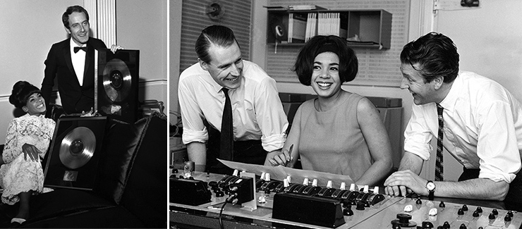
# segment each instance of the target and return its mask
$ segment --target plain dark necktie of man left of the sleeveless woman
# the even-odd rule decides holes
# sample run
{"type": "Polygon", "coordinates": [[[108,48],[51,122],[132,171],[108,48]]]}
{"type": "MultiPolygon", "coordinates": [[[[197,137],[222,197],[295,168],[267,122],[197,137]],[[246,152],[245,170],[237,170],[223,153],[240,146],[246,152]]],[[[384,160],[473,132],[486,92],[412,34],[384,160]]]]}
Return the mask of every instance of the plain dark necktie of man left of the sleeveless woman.
{"type": "Polygon", "coordinates": [[[219,147],[219,158],[233,160],[233,125],[232,125],[232,104],[229,97],[229,89],[223,88],[225,94],[225,107],[221,120],[221,144],[219,147]]]}

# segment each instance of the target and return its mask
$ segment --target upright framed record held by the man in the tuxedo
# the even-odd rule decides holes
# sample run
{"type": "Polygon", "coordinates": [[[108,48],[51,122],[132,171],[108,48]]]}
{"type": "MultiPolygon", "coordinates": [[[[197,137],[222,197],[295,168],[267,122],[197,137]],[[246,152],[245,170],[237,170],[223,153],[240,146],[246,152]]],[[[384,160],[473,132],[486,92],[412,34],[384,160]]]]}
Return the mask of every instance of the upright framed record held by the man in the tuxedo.
{"type": "Polygon", "coordinates": [[[138,120],[140,51],[95,51],[95,109],[127,123],[138,120]]]}

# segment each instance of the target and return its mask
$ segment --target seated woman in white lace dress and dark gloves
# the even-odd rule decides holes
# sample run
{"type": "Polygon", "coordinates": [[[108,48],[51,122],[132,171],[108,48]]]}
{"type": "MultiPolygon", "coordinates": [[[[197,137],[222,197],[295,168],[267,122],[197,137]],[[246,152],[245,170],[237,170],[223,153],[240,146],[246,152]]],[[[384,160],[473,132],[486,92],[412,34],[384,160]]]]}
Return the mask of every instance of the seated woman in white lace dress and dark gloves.
{"type": "Polygon", "coordinates": [[[26,112],[9,123],[4,152],[0,157],[1,200],[13,205],[20,202],[18,214],[11,223],[23,223],[29,218],[32,194],[43,191],[43,159],[54,132],[54,120],[45,118],[45,101],[40,89],[29,82],[18,81],[13,86],[9,102],[26,112]]]}

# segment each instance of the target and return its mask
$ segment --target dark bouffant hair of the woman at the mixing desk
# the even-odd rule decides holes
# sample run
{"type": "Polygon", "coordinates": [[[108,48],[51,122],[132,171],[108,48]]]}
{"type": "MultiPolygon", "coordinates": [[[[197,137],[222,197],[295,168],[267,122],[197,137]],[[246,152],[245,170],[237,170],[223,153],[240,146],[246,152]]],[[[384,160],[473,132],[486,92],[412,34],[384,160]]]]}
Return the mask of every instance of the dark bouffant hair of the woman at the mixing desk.
{"type": "Polygon", "coordinates": [[[301,84],[310,86],[315,56],[326,51],[331,51],[339,57],[339,78],[341,78],[341,82],[350,82],[356,78],[358,71],[357,56],[353,49],[348,47],[346,40],[334,35],[318,35],[312,37],[301,48],[293,66],[301,84]]]}

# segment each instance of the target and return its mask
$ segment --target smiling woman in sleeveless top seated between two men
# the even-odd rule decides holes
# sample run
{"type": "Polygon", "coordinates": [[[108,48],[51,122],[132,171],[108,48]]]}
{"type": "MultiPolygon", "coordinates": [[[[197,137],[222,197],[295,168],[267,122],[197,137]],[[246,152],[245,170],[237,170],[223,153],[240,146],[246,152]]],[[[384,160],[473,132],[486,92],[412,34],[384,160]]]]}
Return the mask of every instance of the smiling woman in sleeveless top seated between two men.
{"type": "Polygon", "coordinates": [[[358,185],[376,185],[391,172],[391,145],[372,102],[341,89],[358,71],[357,57],[346,40],[313,37],[299,51],[294,70],[318,97],[299,107],[283,151],[269,155],[268,161],[293,167],[301,158],[305,170],[349,175],[358,185]]]}

